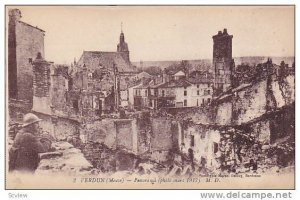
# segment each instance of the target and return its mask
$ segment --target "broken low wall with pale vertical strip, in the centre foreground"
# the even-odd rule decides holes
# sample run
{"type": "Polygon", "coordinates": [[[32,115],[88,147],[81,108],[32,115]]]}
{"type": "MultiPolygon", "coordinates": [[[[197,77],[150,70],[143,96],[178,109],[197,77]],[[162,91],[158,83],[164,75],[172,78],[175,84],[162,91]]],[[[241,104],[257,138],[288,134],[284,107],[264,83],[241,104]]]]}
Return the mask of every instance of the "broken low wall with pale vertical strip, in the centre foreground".
{"type": "Polygon", "coordinates": [[[87,123],[80,137],[86,140],[84,155],[94,166],[102,171],[132,170],[139,159],[157,163],[170,159],[170,152],[176,153],[179,149],[178,132],[179,123],[176,121],[151,119],[149,113],[142,113],[134,119],[87,123]]]}

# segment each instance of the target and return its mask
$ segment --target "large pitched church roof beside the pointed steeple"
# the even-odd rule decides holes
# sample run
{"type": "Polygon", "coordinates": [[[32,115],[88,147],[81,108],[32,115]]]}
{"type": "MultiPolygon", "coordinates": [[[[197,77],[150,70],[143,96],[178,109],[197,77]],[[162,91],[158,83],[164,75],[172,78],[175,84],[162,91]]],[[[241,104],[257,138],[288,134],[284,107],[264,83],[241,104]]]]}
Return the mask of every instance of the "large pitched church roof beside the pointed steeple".
{"type": "Polygon", "coordinates": [[[85,65],[88,69],[106,68],[114,70],[114,64],[119,72],[136,72],[136,68],[126,59],[122,52],[83,51],[78,66],[85,65]]]}

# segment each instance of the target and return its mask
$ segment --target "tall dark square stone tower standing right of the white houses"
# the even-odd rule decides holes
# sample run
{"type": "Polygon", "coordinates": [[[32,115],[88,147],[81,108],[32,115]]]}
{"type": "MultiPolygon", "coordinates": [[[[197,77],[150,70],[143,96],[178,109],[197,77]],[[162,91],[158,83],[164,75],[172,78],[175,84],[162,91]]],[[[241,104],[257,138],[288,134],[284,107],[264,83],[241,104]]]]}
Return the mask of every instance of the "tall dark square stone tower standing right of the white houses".
{"type": "Polygon", "coordinates": [[[219,31],[213,37],[214,95],[219,95],[231,87],[234,60],[232,59],[232,35],[219,31]]]}

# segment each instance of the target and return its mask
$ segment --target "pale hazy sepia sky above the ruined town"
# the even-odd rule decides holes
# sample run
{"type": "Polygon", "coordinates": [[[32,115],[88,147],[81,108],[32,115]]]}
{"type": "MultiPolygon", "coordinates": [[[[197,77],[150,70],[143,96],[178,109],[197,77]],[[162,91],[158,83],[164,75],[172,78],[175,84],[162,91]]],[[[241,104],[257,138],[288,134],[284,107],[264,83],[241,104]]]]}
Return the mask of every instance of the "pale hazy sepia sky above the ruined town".
{"type": "Polygon", "coordinates": [[[233,56],[294,56],[294,7],[18,7],[46,31],[46,59],[70,63],[83,50],[116,51],[121,22],[132,61],[212,58],[227,28],[233,56]]]}

